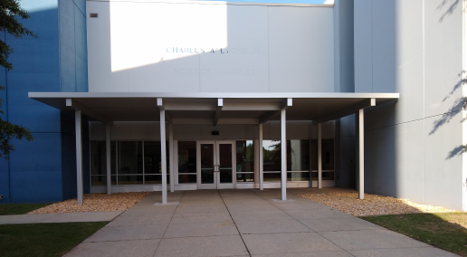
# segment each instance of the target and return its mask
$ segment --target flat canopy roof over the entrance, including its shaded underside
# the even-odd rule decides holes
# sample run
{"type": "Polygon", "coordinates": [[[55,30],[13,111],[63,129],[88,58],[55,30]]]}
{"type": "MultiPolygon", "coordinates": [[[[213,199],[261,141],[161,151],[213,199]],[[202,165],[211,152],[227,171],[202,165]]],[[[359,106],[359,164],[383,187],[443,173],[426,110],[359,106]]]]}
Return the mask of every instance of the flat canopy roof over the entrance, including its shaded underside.
{"type": "Polygon", "coordinates": [[[91,120],[159,121],[160,109],[173,124],[259,124],[279,119],[313,123],[339,119],[390,100],[398,93],[152,93],[30,92],[29,98],[56,109],[80,109],[91,120]]]}

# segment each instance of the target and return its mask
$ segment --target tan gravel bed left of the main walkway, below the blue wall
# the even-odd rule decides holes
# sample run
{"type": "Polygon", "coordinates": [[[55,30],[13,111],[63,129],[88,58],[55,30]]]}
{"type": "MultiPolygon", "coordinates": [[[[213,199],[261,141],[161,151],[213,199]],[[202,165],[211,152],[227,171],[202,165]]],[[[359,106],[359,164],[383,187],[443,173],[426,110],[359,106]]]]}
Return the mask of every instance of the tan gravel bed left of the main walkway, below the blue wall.
{"type": "Polygon", "coordinates": [[[114,193],[112,195],[86,194],[83,195],[82,205],[78,205],[76,198],[74,198],[47,205],[28,214],[126,211],[149,194],[150,192],[114,193]]]}

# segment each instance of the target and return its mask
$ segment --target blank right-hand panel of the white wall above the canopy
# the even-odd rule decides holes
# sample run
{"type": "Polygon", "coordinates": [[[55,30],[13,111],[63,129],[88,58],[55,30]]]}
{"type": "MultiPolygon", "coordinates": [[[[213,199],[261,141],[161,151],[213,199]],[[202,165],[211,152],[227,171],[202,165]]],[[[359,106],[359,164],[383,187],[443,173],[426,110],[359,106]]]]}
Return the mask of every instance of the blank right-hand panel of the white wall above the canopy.
{"type": "Polygon", "coordinates": [[[334,91],[332,8],[269,8],[270,90],[334,91]]]}

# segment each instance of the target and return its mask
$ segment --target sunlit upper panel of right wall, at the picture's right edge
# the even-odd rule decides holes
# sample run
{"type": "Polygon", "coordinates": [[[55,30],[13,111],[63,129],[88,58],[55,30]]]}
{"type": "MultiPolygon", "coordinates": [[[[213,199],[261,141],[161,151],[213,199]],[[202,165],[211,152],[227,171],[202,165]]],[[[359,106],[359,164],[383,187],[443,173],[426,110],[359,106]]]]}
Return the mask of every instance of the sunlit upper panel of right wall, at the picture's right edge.
{"type": "Polygon", "coordinates": [[[461,109],[462,1],[425,1],[425,117],[461,109]],[[453,13],[450,14],[450,6],[453,13]],[[440,6],[443,6],[440,8],[440,6]],[[453,91],[453,95],[450,93],[453,91]]]}

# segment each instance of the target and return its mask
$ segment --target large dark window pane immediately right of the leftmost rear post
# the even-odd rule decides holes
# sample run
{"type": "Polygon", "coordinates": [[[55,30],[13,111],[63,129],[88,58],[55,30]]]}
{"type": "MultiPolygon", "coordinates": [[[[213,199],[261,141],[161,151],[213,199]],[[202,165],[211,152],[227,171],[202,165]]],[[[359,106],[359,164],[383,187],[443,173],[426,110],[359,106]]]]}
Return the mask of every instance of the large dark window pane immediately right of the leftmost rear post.
{"type": "Polygon", "coordinates": [[[138,174],[138,144],[136,141],[119,142],[119,174],[138,174]]]}

